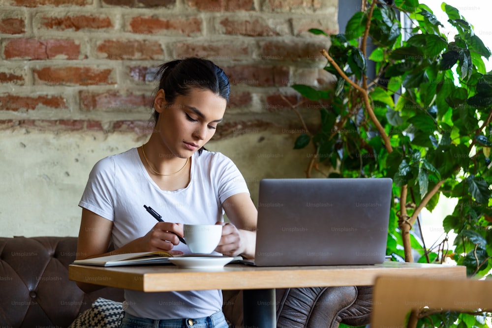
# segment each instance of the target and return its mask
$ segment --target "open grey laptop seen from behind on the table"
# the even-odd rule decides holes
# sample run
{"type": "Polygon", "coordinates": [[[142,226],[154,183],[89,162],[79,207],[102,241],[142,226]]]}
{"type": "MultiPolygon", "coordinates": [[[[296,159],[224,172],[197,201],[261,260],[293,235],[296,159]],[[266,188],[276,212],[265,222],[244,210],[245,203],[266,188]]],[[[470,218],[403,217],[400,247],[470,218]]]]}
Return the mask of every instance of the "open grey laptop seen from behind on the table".
{"type": "Polygon", "coordinates": [[[385,261],[392,179],[263,179],[256,254],[264,266],[385,261]]]}

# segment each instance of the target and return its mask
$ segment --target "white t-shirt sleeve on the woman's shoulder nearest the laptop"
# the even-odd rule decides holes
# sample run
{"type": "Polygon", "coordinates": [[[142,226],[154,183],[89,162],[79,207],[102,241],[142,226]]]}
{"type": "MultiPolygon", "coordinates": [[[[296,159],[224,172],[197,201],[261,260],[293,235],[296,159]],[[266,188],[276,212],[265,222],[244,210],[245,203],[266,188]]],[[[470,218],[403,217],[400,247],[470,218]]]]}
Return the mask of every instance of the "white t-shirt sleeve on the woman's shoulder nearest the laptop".
{"type": "Polygon", "coordinates": [[[214,154],[213,174],[221,204],[235,194],[247,193],[249,195],[246,180],[236,164],[219,152],[214,154]]]}

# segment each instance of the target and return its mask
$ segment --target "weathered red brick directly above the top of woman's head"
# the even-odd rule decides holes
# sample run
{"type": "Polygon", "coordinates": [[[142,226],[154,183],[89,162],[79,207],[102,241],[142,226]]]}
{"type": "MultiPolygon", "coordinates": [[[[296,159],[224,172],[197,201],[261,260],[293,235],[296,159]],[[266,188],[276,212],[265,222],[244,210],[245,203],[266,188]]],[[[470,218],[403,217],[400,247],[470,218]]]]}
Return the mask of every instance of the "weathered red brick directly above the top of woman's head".
{"type": "Polygon", "coordinates": [[[237,60],[248,55],[247,45],[232,43],[193,44],[180,42],[176,44],[175,58],[204,57],[209,60],[237,60]]]}

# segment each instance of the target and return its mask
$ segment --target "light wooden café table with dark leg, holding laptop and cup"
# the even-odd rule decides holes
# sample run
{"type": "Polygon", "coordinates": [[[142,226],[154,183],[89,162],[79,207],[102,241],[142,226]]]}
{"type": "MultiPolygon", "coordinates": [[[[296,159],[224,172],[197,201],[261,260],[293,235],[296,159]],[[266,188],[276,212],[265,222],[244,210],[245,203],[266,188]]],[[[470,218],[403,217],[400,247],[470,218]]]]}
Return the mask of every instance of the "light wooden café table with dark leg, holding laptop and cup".
{"type": "Polygon", "coordinates": [[[373,285],[383,275],[465,278],[466,268],[389,261],[365,266],[262,268],[230,264],[219,270],[173,265],[68,268],[70,280],[143,292],[242,289],[246,327],[276,327],[276,288],[373,285]]]}

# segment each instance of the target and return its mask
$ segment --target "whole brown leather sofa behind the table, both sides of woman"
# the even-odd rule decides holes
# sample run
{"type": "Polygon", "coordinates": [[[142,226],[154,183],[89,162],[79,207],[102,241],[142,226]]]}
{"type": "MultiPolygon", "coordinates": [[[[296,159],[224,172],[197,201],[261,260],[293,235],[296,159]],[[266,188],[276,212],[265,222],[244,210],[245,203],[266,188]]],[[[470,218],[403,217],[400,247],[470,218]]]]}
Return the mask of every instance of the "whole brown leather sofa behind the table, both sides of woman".
{"type": "MultiPolygon", "coordinates": [[[[99,298],[123,301],[123,290],[86,294],[68,280],[76,237],[0,237],[0,327],[68,327],[99,298]]],[[[224,313],[242,321],[239,291],[224,291],[224,313]]],[[[336,328],[369,324],[371,287],[277,290],[277,327],[336,328]]]]}

